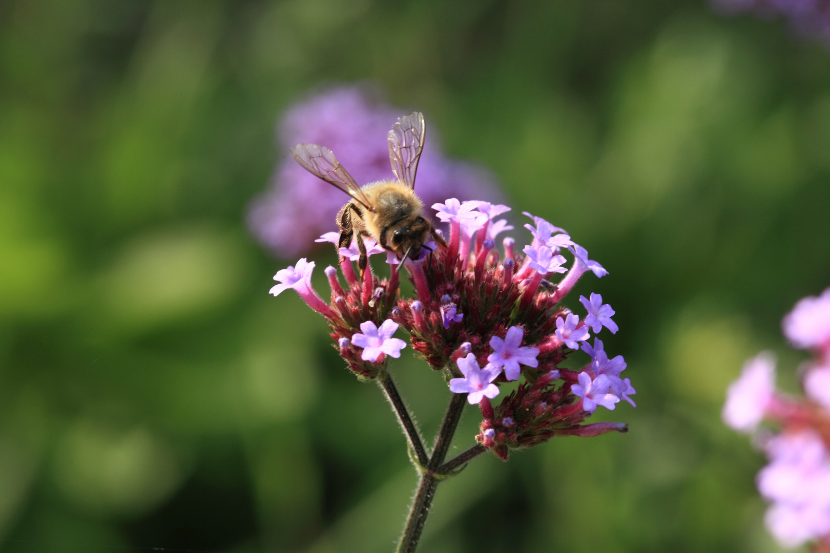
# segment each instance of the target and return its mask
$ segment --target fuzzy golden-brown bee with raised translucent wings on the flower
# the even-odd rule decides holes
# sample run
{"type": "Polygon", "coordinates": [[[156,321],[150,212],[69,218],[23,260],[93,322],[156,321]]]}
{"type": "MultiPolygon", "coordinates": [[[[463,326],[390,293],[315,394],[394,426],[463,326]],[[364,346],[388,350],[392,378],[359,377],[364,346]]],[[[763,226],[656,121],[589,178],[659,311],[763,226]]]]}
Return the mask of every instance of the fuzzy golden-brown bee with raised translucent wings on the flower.
{"type": "Polygon", "coordinates": [[[384,250],[417,260],[424,242],[432,235],[447,245],[423,213],[423,202],[415,195],[415,172],[421,157],[427,129],[423,114],[404,115],[388,133],[389,161],[395,179],[371,182],[359,187],[334,157],[334,153],[317,144],[297,144],[291,155],[308,171],[349,194],[352,200],[337,214],[340,230],[338,248],[357,241],[363,274],[368,263],[363,236],[370,236],[384,250]]]}

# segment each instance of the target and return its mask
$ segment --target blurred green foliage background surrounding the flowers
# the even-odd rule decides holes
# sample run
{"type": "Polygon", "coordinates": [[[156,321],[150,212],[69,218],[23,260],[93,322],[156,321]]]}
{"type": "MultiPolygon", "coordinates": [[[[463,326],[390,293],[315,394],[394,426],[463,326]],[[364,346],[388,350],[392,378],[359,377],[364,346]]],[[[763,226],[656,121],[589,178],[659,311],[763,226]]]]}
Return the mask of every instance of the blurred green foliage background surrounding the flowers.
{"type": "MultiPolygon", "coordinates": [[[[760,349],[795,389],[830,284],[830,55],[701,0],[0,2],[2,551],[391,551],[403,437],[244,225],[281,112],[366,80],[604,264],[638,391],[477,460],[420,551],[777,551],[719,411],[760,349]]],[[[393,372],[431,436],[446,386],[393,372]]]]}

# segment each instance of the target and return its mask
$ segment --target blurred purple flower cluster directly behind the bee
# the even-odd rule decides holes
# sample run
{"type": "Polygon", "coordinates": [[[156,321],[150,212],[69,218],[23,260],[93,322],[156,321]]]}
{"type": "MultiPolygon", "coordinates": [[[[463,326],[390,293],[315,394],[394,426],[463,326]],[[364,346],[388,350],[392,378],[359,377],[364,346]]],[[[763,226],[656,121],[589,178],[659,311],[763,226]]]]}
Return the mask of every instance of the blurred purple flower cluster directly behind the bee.
{"type": "MultiPolygon", "coordinates": [[[[313,239],[336,228],[337,211],[349,201],[349,196],[295,163],[288,154],[295,144],[330,148],[360,184],[393,178],[386,136],[407,110],[370,97],[366,87],[341,86],[295,104],[283,115],[277,132],[280,162],[271,188],[252,202],[247,214],[251,233],[276,255],[307,253],[313,239]]],[[[452,196],[500,197],[490,172],[444,157],[435,129],[427,132],[415,188],[425,205],[452,196]]]]}

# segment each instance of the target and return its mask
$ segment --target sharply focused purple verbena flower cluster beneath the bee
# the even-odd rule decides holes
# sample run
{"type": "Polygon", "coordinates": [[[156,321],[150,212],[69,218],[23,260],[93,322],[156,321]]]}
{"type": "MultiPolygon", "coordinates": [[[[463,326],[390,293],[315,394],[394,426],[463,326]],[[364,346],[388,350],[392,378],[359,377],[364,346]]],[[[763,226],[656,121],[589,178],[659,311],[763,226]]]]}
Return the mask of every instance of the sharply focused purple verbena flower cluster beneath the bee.
{"type": "MultiPolygon", "coordinates": [[[[354,244],[339,250],[344,282],[337,269],[325,269],[329,301],[312,289],[314,263],[305,259],[279,271],[275,279],[281,284],[271,293],[295,289],[323,315],[335,347],[360,378],[378,376],[388,357],[412,347],[432,369],[443,372],[452,392],[479,405],[484,419],[476,440],[500,458],[508,458],[510,449],[556,435],[626,431],[621,423],[583,424],[600,405],[609,410],[621,400],[634,405],[636,391],[622,376],[626,362],[622,356],[609,358],[595,337],[603,327],[618,332],[613,308],[598,293],[580,296],[583,314],[560,303],[583,274],[607,274],[603,266],[563,229],[540,217],[525,213],[533,221],[525,225],[533,235],[530,245],[520,252],[515,240],[505,238],[500,252],[497,235],[513,227],[496,217],[509,207],[451,198],[432,208],[449,225],[449,240],[446,247],[429,243],[432,253],[424,249],[419,260],[403,262],[415,297],[400,297],[394,255],[387,255],[392,267],[388,278],[380,279],[371,263],[359,276],[354,244]],[[564,277],[551,282],[557,274],[564,277]],[[408,344],[393,337],[398,328],[408,333],[408,344]],[[562,362],[580,349],[588,354],[587,365],[579,371],[563,368],[562,362]],[[492,405],[500,386],[520,380],[492,405]]],[[[334,242],[336,233],[318,240],[334,242]]],[[[384,252],[374,240],[364,240],[370,258],[384,252]]]]}

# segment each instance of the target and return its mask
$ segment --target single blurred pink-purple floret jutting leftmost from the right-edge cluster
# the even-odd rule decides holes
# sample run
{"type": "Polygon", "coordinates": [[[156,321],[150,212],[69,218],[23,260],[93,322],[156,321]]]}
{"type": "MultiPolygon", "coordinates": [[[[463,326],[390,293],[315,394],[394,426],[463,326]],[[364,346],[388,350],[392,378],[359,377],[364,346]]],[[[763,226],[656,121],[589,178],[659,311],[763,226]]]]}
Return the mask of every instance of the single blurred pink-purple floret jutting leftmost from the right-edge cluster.
{"type": "Polygon", "coordinates": [[[764,419],[775,390],[775,358],[762,352],[744,364],[738,380],[726,390],[721,412],[725,424],[740,432],[751,432],[764,419]]]}

